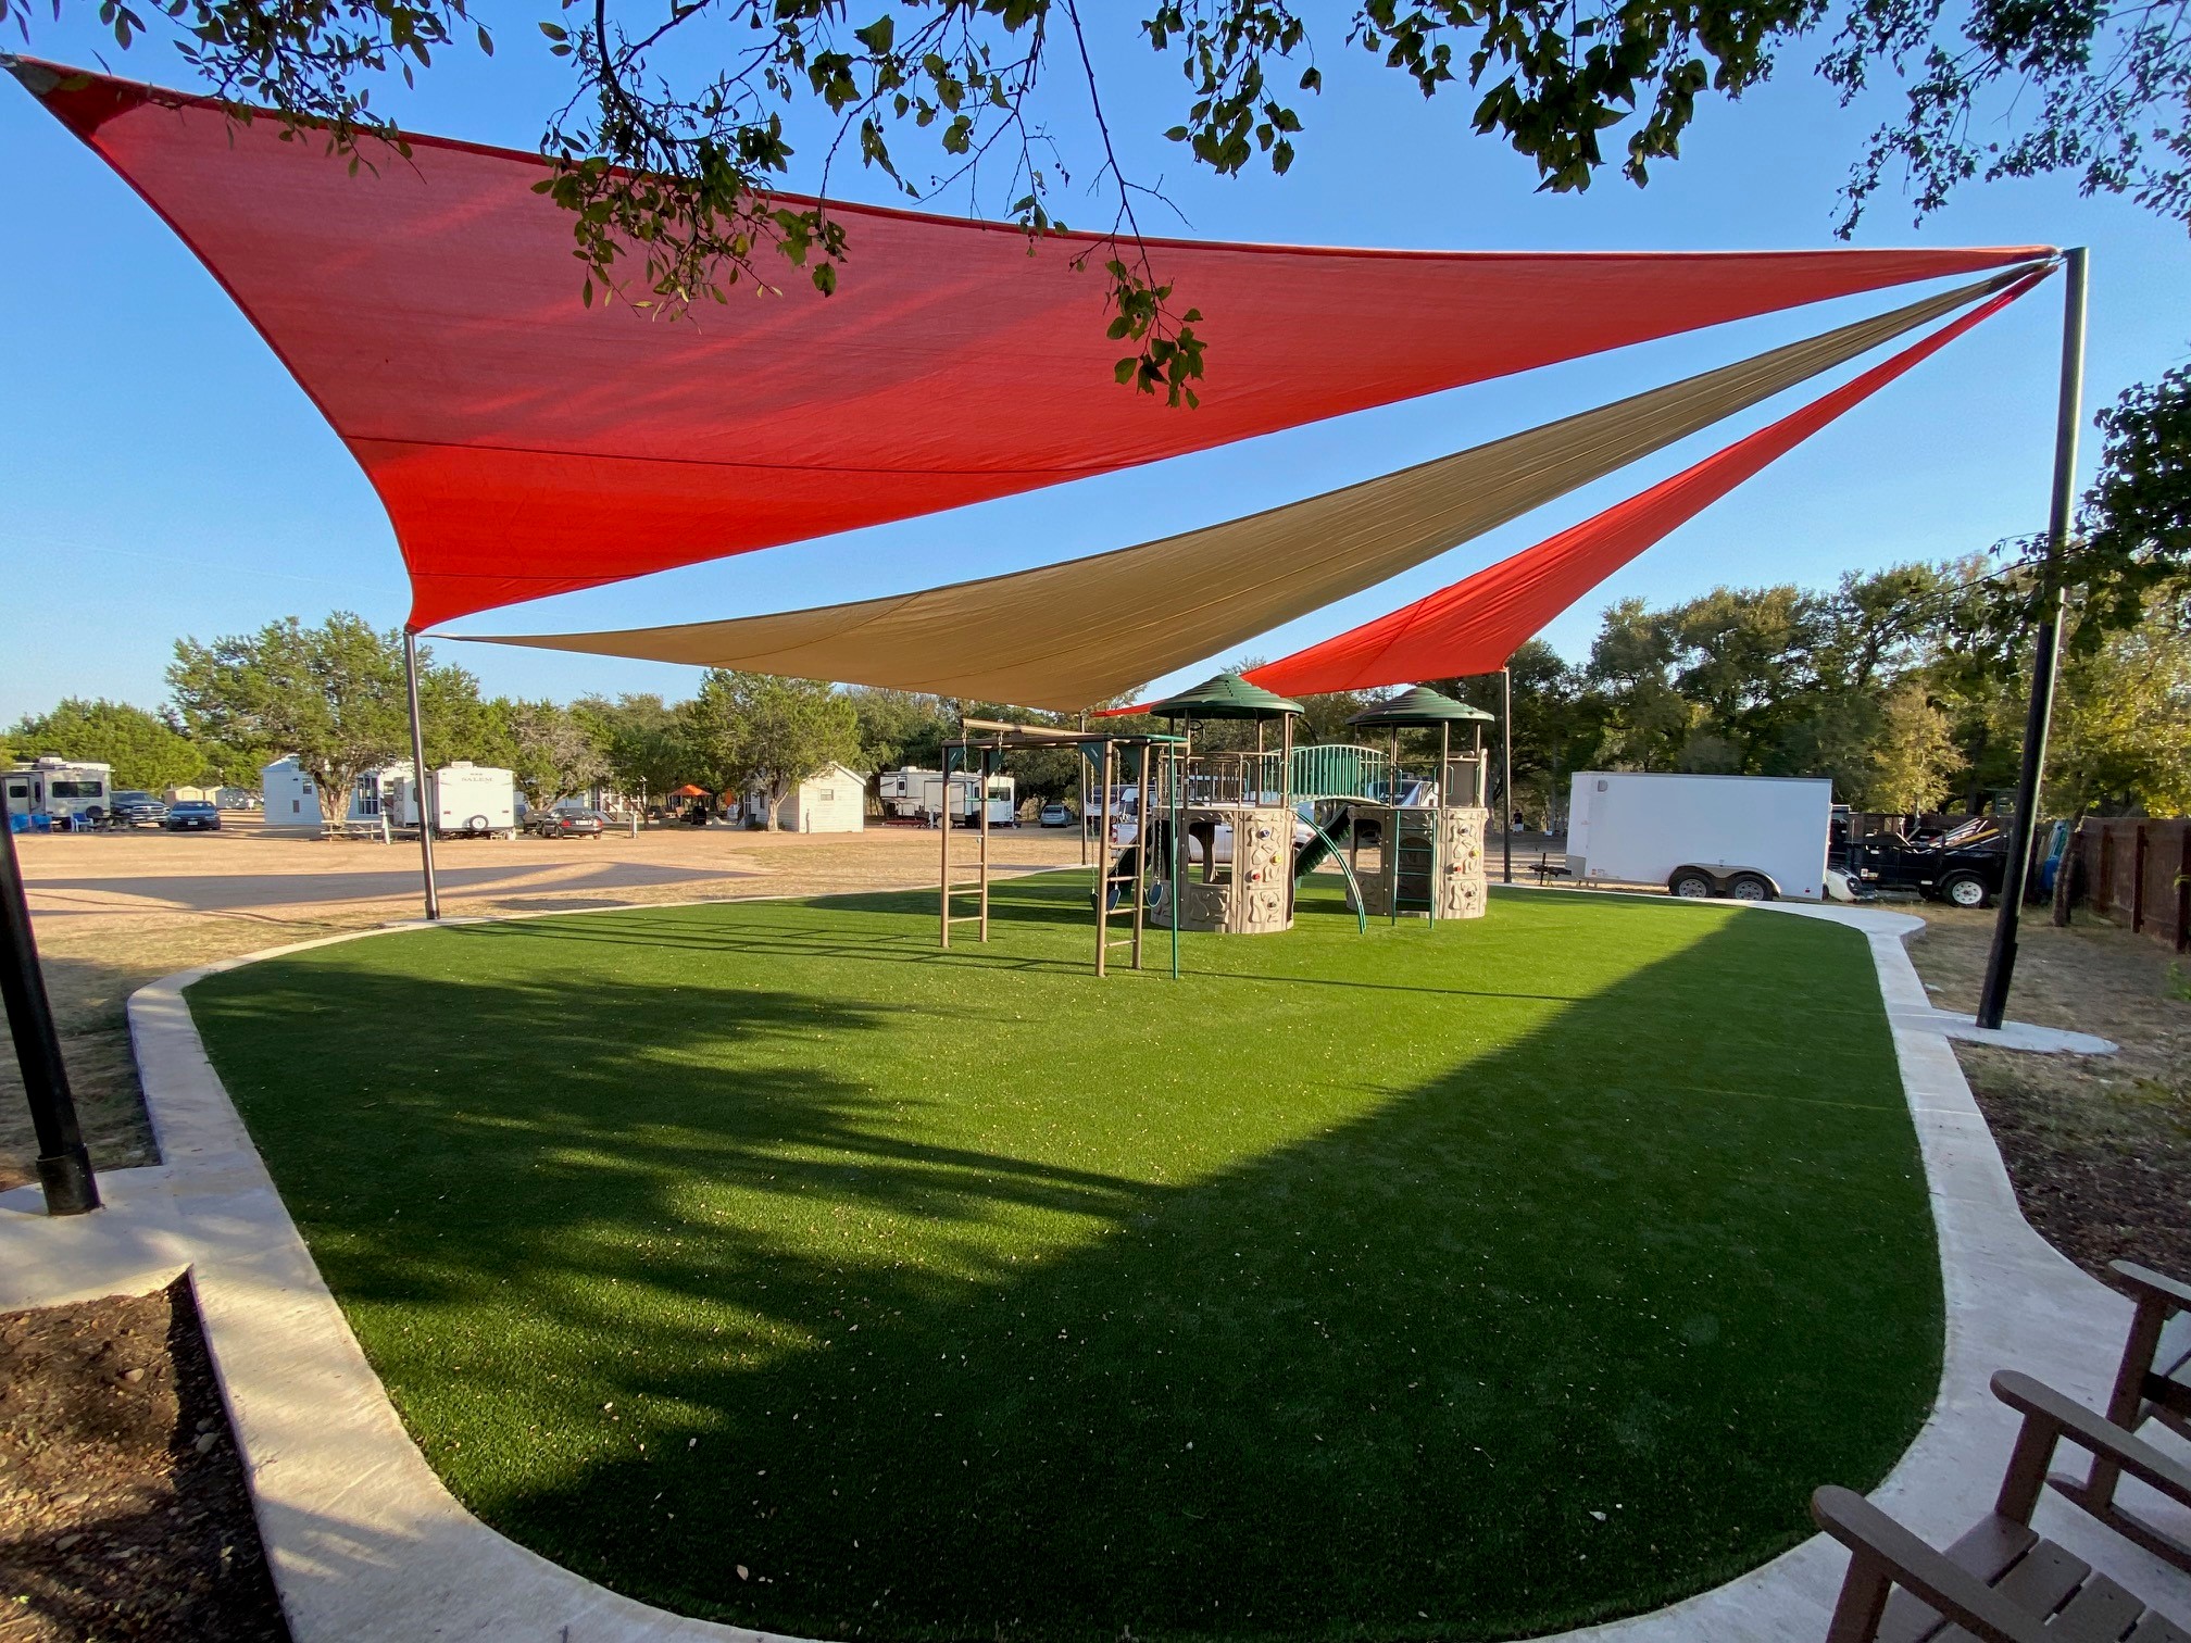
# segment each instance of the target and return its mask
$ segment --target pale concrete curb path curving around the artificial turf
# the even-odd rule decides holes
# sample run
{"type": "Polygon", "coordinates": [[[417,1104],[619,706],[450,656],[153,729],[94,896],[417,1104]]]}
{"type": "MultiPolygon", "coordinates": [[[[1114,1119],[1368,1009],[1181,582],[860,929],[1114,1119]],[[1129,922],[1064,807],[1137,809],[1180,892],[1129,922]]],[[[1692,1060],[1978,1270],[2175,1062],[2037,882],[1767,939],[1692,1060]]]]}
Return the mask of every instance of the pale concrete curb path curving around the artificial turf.
{"type": "MultiPolygon", "coordinates": [[[[697,903],[649,903],[670,905],[697,903]]],[[[2081,1402],[2103,1402],[2130,1303],[2022,1220],[1943,1036],[1948,1023],[1902,946],[1924,922],[1786,903],[1753,911],[1847,924],[1871,946],[1924,1152],[1948,1314],[1932,1413],[1873,1498],[1943,1540],[1987,1509],[2014,1439],[2014,1417],[1987,1391],[1987,1376],[2014,1367],[2081,1402]]],[[[583,914],[524,914],[554,916],[583,914]]],[[[762,1643],[765,1632],[620,1597],[464,1512],[403,1431],[206,1058],[182,997],[193,981],[408,929],[421,924],[278,946],[182,970],[131,995],[129,1030],[162,1163],[103,1176],[110,1209],[79,1220],[46,1220],[35,1190],[0,1194],[0,1308],[142,1292],[191,1273],[298,1643],[762,1643]]],[[[2149,1494],[2138,1503],[2173,1520],[2178,1533],[2191,1531],[2191,1514],[2149,1494]]],[[[2149,1601],[2191,1615],[2191,1577],[2053,1498],[2042,1505],[2040,1527],[2149,1601]]],[[[1810,1641],[1825,1634],[1840,1569],[1843,1553],[1821,1536],[1709,1593],[1567,1636],[1810,1641]]]]}

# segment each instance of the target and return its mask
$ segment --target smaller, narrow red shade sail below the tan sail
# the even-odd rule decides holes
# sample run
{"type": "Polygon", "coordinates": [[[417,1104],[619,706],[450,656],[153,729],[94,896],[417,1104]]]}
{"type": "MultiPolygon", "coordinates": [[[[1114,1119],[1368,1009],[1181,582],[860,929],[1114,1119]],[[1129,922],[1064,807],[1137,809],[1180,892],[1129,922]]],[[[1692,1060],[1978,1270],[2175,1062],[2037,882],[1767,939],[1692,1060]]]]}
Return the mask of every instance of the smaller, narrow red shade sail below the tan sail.
{"type": "Polygon", "coordinates": [[[1479,570],[1374,622],[1306,651],[1251,668],[1264,690],[1299,697],[1319,690],[1374,690],[1415,679],[1466,679],[1496,673],[1551,618],[1674,528],[1786,456],[1851,405],[1869,399],[1922,359],[2020,298],[2044,274],[2011,285],[1902,353],[1803,410],[1707,456],[1672,480],[1584,519],[1512,559],[1479,570]]]}

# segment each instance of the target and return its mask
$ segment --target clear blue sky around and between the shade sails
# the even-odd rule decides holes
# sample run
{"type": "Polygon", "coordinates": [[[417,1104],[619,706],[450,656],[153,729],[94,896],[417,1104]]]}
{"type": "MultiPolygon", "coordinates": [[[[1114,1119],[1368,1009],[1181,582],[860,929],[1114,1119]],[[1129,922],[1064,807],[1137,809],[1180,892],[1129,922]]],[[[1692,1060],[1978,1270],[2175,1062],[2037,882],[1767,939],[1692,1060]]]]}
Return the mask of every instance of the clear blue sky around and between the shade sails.
{"type": "MultiPolygon", "coordinates": [[[[1584,195],[1553,197],[1534,193],[1523,160],[1468,134],[1466,92],[1424,103],[1402,79],[1350,55],[1332,28],[1321,50],[1326,94],[1304,99],[1308,131],[1293,173],[1220,180],[1181,164],[1179,149],[1159,136],[1179,116],[1179,81],[1170,70],[1150,70],[1133,42],[1124,18],[1137,11],[1104,11],[1120,18],[1096,39],[1113,134],[1128,169],[1144,180],[1161,175],[1181,212],[1144,217],[1150,232],[1453,250],[1829,245],[1836,188],[1862,136],[1891,107],[1882,99],[1840,110],[1808,57],[1794,53],[1740,105],[1707,103],[1685,158],[1659,166],[1650,188],[1608,175],[1584,195]]],[[[70,18],[42,22],[31,48],[61,61],[96,61],[103,50],[116,72],[186,83],[162,42],[114,53],[79,15],[90,13],[72,0],[70,18]]],[[[493,59],[458,50],[416,92],[397,85],[377,103],[421,131],[528,147],[563,88],[537,15],[548,13],[491,9],[500,44],[493,59]]],[[[1082,103],[1063,72],[1043,94],[1060,142],[1087,158],[1082,103]]],[[[822,145],[795,136],[802,160],[817,160],[822,145]]],[[[911,158],[911,134],[905,142],[903,158],[911,158]]],[[[177,635],[210,640],[331,609],[397,624],[408,607],[403,570],[372,491],[195,258],[13,85],[0,85],[0,221],[11,230],[11,302],[0,309],[0,357],[9,361],[0,392],[0,495],[9,499],[0,515],[9,613],[0,721],[64,694],[156,705],[177,635]]],[[[813,169],[793,175],[793,186],[813,182],[813,169]]],[[[848,171],[839,171],[837,193],[892,197],[879,177],[848,171]]],[[[953,195],[936,208],[966,204],[953,195]]],[[[990,210],[1001,204],[986,202],[990,210]]],[[[1089,226],[1109,215],[1078,188],[1060,208],[1089,226]]],[[[2068,180],[1970,188],[1922,228],[1889,197],[1867,217],[1858,243],[2090,245],[2088,412],[2191,353],[2191,241],[2182,226],[2119,199],[2079,199],[2068,180]]],[[[1672,337],[458,627],[489,633],[743,616],[1100,552],[1439,456],[1893,300],[1860,298],[1672,337]]],[[[1983,550],[2038,528],[2060,311],[2053,280],[1672,535],[1547,637],[1580,657],[1597,611],[1615,598],[1674,600],[1720,583],[1829,585],[1843,570],[1983,550]]],[[[1247,648],[1282,655],[1442,587],[1783,414],[1803,392],[1247,648]]],[[[2086,475],[2095,456],[2088,438],[2086,475]]],[[[646,662],[467,644],[438,651],[473,668],[489,692],[528,697],[679,694],[697,679],[688,668],[646,662]]]]}

